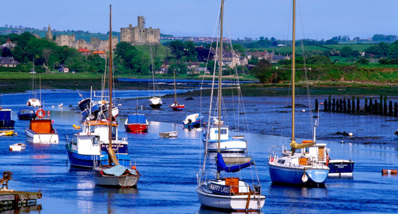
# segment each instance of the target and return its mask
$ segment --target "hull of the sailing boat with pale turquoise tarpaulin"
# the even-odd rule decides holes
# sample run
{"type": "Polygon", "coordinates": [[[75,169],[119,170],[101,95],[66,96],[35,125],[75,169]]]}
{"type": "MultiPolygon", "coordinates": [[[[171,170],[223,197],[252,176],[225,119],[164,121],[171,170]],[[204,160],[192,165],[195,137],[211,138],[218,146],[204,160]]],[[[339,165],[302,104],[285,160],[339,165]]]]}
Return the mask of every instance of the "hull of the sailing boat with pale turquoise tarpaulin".
{"type": "Polygon", "coordinates": [[[139,175],[122,175],[113,176],[101,173],[102,168],[95,167],[93,170],[94,180],[96,185],[102,187],[112,188],[130,188],[136,187],[139,179],[139,175]]]}

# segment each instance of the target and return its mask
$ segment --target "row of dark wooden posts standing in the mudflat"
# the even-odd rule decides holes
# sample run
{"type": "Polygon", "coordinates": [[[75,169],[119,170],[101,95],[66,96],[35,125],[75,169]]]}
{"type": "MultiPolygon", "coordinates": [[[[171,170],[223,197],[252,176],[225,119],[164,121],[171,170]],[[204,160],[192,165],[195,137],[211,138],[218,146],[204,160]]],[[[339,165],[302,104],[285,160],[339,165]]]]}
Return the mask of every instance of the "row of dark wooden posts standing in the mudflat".
{"type": "MultiPolygon", "coordinates": [[[[352,100],[350,99],[334,99],[331,100],[330,96],[328,100],[323,101],[323,111],[328,112],[338,112],[338,113],[351,113],[351,114],[375,114],[375,115],[385,115],[385,116],[398,116],[398,104],[397,102],[394,103],[394,110],[393,110],[393,101],[389,101],[388,108],[387,108],[387,96],[380,95],[380,102],[378,103],[377,100],[373,102],[372,98],[369,98],[369,105],[368,105],[368,98],[365,98],[365,106],[360,106],[360,99],[359,97],[356,99],[357,102],[355,103],[355,98],[352,96],[352,100]],[[383,103],[383,104],[382,104],[383,103]],[[388,110],[387,110],[388,109],[388,110]]],[[[318,111],[319,103],[318,100],[315,100],[315,111],[318,111]]]]}

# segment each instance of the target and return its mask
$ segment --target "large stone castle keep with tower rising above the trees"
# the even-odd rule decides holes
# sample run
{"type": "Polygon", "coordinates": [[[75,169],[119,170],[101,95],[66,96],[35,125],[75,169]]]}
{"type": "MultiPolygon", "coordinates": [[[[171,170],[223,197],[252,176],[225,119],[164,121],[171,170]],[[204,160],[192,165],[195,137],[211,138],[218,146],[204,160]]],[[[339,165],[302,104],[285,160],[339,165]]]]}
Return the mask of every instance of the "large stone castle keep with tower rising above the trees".
{"type": "Polygon", "coordinates": [[[138,16],[137,26],[128,25],[120,28],[120,41],[132,45],[154,45],[160,44],[160,29],[152,27],[145,28],[145,17],[138,16]]]}

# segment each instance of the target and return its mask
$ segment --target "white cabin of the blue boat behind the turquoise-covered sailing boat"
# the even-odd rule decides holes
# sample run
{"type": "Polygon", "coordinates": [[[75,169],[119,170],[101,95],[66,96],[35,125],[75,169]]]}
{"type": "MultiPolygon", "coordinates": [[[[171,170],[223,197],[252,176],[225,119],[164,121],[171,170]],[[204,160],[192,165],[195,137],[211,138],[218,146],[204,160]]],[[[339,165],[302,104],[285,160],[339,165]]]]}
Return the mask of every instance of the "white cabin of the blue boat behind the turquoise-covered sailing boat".
{"type": "Polygon", "coordinates": [[[78,154],[100,155],[100,136],[98,134],[87,134],[80,132],[79,134],[73,135],[71,147],[73,150],[78,151],[78,154]]]}

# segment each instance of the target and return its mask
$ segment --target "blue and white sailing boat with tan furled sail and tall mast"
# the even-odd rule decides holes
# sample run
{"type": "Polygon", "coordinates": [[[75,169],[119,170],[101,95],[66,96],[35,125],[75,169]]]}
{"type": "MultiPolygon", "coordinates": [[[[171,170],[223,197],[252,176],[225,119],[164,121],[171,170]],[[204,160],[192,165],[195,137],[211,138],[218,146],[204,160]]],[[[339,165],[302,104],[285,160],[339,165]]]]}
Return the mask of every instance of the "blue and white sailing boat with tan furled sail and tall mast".
{"type": "MultiPolygon", "coordinates": [[[[324,186],[329,173],[329,167],[318,159],[305,155],[305,148],[315,144],[313,140],[303,140],[297,143],[295,138],[295,33],[296,33],[296,0],[293,0],[293,39],[292,39],[292,153],[289,156],[277,155],[275,149],[270,153],[268,167],[273,183],[299,185],[299,186],[324,186]],[[301,149],[299,154],[295,151],[301,149]]],[[[275,148],[275,146],[273,147],[275,148]]]]}

